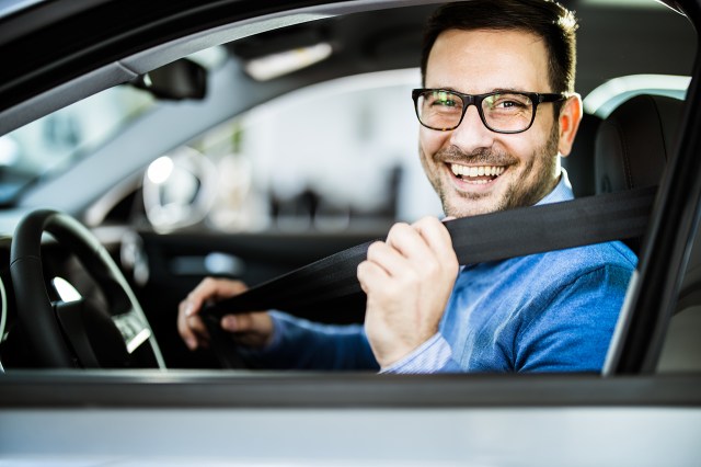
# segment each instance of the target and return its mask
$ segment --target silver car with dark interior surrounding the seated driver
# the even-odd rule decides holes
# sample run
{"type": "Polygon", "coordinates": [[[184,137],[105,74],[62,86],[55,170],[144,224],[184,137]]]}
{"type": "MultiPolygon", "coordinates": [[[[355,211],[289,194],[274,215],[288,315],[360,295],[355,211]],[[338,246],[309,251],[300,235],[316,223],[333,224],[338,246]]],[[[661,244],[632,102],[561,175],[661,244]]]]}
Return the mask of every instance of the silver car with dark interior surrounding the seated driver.
{"type": "Polygon", "coordinates": [[[206,275],[264,285],[441,215],[411,101],[437,4],[0,2],[2,464],[698,463],[699,0],[563,2],[575,194],[658,185],[600,374],[222,368],[180,339],[206,275]]]}

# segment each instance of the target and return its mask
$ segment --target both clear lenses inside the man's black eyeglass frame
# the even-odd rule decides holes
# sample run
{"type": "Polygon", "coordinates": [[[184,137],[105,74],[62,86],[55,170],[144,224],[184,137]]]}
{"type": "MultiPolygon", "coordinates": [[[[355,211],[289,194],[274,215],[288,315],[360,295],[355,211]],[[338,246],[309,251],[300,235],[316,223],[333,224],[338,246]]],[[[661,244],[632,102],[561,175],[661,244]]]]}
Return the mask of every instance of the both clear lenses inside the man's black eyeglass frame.
{"type": "MultiPolygon", "coordinates": [[[[464,103],[447,91],[427,91],[416,101],[422,124],[434,129],[453,129],[460,124],[464,103]]],[[[481,103],[484,124],[495,132],[521,132],[531,124],[533,103],[525,94],[494,93],[481,103]]]]}

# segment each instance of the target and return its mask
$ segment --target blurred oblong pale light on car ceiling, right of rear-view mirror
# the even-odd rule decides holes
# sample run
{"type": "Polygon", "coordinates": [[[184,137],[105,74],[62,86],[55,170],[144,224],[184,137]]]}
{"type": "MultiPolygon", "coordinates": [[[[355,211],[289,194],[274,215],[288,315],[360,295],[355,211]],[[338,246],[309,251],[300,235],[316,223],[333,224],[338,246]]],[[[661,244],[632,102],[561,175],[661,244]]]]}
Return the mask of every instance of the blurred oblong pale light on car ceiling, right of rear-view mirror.
{"type": "Polygon", "coordinates": [[[325,60],[332,52],[331,44],[320,43],[251,59],[244,69],[256,81],[268,81],[325,60]]]}

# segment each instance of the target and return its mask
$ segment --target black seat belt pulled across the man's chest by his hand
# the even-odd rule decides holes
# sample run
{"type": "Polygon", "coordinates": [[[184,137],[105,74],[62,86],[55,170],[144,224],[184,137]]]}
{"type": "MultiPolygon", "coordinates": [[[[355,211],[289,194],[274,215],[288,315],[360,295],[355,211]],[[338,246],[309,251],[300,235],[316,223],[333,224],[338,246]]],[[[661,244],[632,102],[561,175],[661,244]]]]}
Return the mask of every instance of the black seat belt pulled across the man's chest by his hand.
{"type": "MultiPolygon", "coordinates": [[[[657,187],[583,197],[446,221],[460,264],[642,237],[657,187]]],[[[212,318],[279,309],[315,319],[364,311],[365,293],[356,277],[372,241],[332,254],[245,293],[209,306],[212,318]]]]}

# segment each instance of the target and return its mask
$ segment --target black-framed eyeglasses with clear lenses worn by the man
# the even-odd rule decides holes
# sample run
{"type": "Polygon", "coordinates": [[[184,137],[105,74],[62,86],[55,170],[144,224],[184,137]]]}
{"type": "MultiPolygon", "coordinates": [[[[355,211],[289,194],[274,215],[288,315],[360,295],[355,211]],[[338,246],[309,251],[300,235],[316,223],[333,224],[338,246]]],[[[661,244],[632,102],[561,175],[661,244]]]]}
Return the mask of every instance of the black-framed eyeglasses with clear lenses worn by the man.
{"type": "Polygon", "coordinates": [[[482,123],[492,132],[521,133],[533,124],[538,104],[564,101],[567,96],[563,93],[496,91],[463,94],[443,89],[414,89],[412,99],[418,122],[426,128],[439,132],[456,129],[468,107],[474,105],[482,123]]]}

